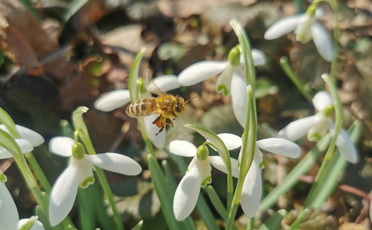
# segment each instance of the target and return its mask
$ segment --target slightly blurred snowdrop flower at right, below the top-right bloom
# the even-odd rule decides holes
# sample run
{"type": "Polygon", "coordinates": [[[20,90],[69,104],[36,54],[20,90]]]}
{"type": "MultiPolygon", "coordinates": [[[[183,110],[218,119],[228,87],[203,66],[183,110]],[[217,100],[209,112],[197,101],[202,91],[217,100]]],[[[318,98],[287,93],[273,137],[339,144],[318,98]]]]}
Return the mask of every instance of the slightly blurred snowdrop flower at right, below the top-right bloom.
{"type": "MultiPolygon", "coordinates": [[[[333,135],[335,124],[331,120],[334,111],[331,95],[326,91],[320,91],[312,98],[312,103],[320,111],[319,113],[289,123],[279,131],[277,137],[296,141],[307,133],[310,141],[318,141],[327,133],[327,130],[333,135]]],[[[355,164],[359,161],[358,151],[345,129],[341,129],[336,146],[340,154],[350,163],[355,164]]]]}

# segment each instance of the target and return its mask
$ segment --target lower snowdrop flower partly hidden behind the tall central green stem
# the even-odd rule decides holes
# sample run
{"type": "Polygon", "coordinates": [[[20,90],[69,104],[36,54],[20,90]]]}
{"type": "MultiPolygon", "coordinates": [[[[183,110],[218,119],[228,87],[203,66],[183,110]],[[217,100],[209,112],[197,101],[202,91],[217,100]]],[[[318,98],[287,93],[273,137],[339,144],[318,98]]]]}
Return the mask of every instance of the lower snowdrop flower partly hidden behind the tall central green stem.
{"type": "MultiPolygon", "coordinates": [[[[225,143],[228,150],[240,148],[242,145],[240,136],[231,133],[221,133],[217,136],[225,143]]],[[[256,141],[254,159],[244,179],[240,198],[241,208],[248,218],[252,218],[257,213],[261,200],[262,178],[259,165],[262,163],[262,152],[259,148],[290,158],[298,158],[301,154],[301,149],[298,145],[285,139],[267,138],[256,141]]],[[[242,152],[239,153],[238,161],[240,161],[241,154],[242,152]]]]}

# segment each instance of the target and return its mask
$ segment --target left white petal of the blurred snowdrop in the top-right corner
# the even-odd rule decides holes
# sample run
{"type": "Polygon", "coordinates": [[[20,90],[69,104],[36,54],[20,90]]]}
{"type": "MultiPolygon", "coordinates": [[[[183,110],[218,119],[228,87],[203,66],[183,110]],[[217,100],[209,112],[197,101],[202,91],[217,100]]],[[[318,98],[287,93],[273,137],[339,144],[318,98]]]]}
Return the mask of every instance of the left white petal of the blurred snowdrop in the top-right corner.
{"type": "Polygon", "coordinates": [[[264,39],[276,39],[294,31],[304,16],[305,14],[297,14],[294,16],[283,17],[266,30],[263,35],[264,39]]]}

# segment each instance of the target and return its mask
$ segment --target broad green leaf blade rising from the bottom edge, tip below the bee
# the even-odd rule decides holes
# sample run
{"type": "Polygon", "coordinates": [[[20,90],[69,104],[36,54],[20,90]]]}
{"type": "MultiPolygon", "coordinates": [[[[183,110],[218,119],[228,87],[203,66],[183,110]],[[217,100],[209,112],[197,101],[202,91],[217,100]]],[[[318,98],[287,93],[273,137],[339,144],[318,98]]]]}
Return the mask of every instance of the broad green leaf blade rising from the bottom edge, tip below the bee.
{"type": "Polygon", "coordinates": [[[183,225],[181,222],[174,218],[173,214],[173,195],[170,190],[170,186],[167,182],[166,177],[163,174],[156,158],[148,154],[147,155],[148,168],[151,172],[151,179],[154,183],[156,193],[159,197],[161,207],[166,218],[167,224],[170,230],[182,230],[183,225]]]}

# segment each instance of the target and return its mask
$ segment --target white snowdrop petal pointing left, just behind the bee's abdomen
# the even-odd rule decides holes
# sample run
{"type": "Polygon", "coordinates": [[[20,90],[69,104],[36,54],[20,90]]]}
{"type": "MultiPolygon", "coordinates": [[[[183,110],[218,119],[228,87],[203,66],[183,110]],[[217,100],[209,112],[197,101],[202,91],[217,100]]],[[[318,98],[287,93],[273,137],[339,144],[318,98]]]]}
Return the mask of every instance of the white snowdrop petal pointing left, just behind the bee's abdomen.
{"type": "Polygon", "coordinates": [[[129,90],[113,90],[94,101],[96,110],[109,112],[131,102],[129,90]]]}

